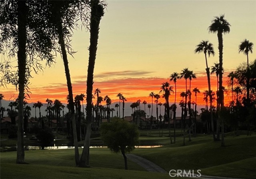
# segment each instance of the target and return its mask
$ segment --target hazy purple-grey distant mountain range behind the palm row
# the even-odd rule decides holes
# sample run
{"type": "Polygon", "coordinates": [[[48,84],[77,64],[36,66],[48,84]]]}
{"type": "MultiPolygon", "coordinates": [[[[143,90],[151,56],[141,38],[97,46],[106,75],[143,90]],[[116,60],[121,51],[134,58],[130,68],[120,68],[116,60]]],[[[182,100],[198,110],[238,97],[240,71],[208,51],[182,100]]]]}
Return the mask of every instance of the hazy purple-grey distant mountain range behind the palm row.
{"type": "MultiPolygon", "coordinates": [[[[4,100],[2,99],[2,107],[5,107],[5,109],[7,108],[10,108],[8,105],[11,101],[8,101],[8,100],[4,100]]],[[[119,105],[119,102],[114,102],[110,105],[110,108],[114,108],[116,110],[116,103],[118,103],[119,105]]],[[[27,105],[31,107],[31,117],[34,117],[35,116],[35,108],[33,108],[33,104],[34,103],[28,103],[27,105]]],[[[131,102],[126,102],[124,104],[124,116],[130,116],[132,114],[132,108],[130,107],[132,103],[131,102]]],[[[148,104],[151,104],[151,103],[148,103],[148,104]]],[[[64,104],[66,106],[66,104],[64,104]]],[[[172,103],[170,103],[170,105],[172,105],[172,103]]],[[[105,105],[104,105],[105,106],[105,105]]],[[[43,103],[43,106],[41,107],[41,114],[42,116],[45,116],[46,115],[46,107],[47,107],[47,103],[43,103]]],[[[86,105],[84,104],[84,108],[86,107],[86,105]]],[[[153,116],[156,117],[156,104],[153,104],[153,116]]],[[[192,106],[191,106],[192,107],[192,106]]],[[[199,113],[201,113],[200,109],[204,107],[204,105],[197,105],[197,111],[199,113]]],[[[140,109],[141,110],[144,110],[144,104],[140,104],[140,109]]],[[[119,110],[119,108],[118,108],[119,110]]],[[[150,108],[150,111],[151,111],[151,108],[150,108]]],[[[64,113],[68,112],[68,108],[64,108],[64,113]]],[[[119,111],[118,111],[118,114],[119,114],[119,111]]],[[[121,103],[121,106],[120,106],[120,117],[122,117],[122,103],[121,103]]],[[[149,109],[148,109],[148,105],[146,104],[146,114],[149,115],[149,109]]],[[[164,106],[161,106],[161,115],[164,114],[164,106]]],[[[110,113],[110,115],[112,115],[112,113],[110,113]]],[[[116,111],[113,112],[113,116],[116,115],[116,111]]],[[[158,106],[158,116],[160,115],[160,107],[158,106]]],[[[7,111],[4,112],[4,116],[7,116],[7,111]]],[[[36,108],[36,116],[39,117],[39,109],[36,108]]],[[[176,116],[177,117],[180,117],[181,116],[181,108],[178,106],[177,107],[177,110],[176,110],[176,116]]]]}

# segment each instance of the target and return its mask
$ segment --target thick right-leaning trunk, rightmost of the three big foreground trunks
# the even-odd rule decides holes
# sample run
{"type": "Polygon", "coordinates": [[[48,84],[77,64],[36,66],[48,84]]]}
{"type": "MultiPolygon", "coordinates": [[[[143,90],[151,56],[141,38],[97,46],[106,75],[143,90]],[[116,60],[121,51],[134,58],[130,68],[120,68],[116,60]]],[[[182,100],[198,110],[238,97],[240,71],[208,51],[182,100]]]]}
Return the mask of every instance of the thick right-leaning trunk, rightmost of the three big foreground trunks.
{"type": "Polygon", "coordinates": [[[96,60],[98,35],[100,19],[103,16],[103,7],[99,4],[98,0],[91,1],[91,18],[90,18],[90,47],[89,47],[89,62],[88,62],[88,74],[87,74],[87,89],[86,89],[86,116],[87,116],[87,130],[84,140],[84,149],[80,158],[79,166],[89,166],[89,147],[90,147],[90,135],[91,135],[91,123],[92,123],[92,89],[93,89],[93,73],[96,60]]]}

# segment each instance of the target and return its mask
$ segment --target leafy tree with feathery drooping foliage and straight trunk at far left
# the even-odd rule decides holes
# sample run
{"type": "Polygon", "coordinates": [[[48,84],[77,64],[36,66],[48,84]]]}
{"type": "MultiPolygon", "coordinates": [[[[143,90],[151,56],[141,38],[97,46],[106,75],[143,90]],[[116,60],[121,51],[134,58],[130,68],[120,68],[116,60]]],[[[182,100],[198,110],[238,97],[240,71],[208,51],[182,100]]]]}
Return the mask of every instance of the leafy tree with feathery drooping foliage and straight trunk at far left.
{"type": "MultiPolygon", "coordinates": [[[[9,57],[17,58],[18,70],[12,72],[11,58],[4,62],[8,68],[3,72],[1,83],[11,83],[19,90],[18,94],[18,140],[16,163],[24,161],[24,130],[23,130],[23,99],[28,91],[31,72],[42,70],[41,60],[46,59],[46,65],[53,62],[51,36],[42,22],[44,1],[8,1],[0,4],[0,52],[9,57]]],[[[5,66],[6,67],[6,66],[5,66]]],[[[29,94],[27,93],[29,96],[29,94]]]]}

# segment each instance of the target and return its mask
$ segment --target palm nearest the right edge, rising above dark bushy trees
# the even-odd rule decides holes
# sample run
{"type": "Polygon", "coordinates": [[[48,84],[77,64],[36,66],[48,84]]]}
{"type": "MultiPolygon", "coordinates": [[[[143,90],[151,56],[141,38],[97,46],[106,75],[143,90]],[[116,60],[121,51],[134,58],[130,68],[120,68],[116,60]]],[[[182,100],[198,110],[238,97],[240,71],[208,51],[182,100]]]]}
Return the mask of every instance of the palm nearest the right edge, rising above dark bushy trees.
{"type": "Polygon", "coordinates": [[[250,98],[249,98],[249,90],[250,90],[250,72],[249,72],[249,57],[248,57],[248,54],[249,52],[252,53],[252,47],[253,47],[253,43],[252,42],[249,42],[249,40],[246,40],[244,39],[244,41],[241,42],[241,44],[239,45],[239,48],[238,48],[238,52],[243,52],[246,56],[247,56],[247,80],[246,80],[246,99],[247,99],[247,105],[249,105],[250,103],[250,98]]]}

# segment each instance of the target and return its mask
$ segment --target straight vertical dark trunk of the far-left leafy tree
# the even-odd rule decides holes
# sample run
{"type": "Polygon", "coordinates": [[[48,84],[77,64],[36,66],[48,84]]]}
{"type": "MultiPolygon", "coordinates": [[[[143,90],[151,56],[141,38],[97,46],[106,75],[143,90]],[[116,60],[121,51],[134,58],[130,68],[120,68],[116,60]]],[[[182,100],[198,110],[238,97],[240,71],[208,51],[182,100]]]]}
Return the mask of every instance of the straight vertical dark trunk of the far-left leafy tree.
{"type": "Polygon", "coordinates": [[[17,139],[17,159],[16,163],[25,163],[24,153],[24,131],[23,131],[23,99],[26,78],[26,1],[18,1],[18,77],[19,77],[19,96],[18,96],[18,139],[17,139]]]}

